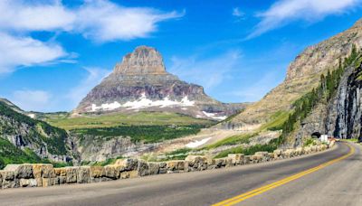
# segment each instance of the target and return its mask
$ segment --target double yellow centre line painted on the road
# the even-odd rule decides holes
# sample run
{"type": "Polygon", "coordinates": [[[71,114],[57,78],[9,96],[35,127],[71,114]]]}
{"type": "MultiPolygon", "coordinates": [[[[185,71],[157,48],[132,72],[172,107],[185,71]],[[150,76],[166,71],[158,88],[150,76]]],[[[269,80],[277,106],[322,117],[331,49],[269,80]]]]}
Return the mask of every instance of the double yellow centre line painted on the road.
{"type": "MultiPolygon", "coordinates": [[[[347,144],[346,144],[347,145],[347,144]]],[[[287,178],[284,178],[284,179],[281,179],[280,181],[277,181],[275,183],[271,183],[271,184],[268,184],[268,185],[265,185],[265,186],[262,186],[260,188],[257,188],[255,190],[252,190],[250,192],[245,192],[243,194],[240,194],[240,195],[237,195],[233,198],[230,198],[230,199],[227,199],[227,200],[224,200],[224,201],[220,201],[218,203],[215,203],[213,204],[213,206],[229,206],[229,205],[234,205],[236,203],[239,203],[241,201],[244,201],[246,199],[249,199],[255,195],[258,195],[258,194],[261,194],[263,192],[267,192],[267,191],[270,191],[272,190],[273,188],[276,188],[276,187],[279,187],[285,183],[289,183],[293,180],[296,180],[296,179],[299,179],[300,177],[304,176],[304,175],[307,175],[309,173],[314,173],[330,164],[334,164],[334,163],[337,163],[338,161],[341,161],[343,159],[346,159],[348,158],[348,156],[350,155],[353,155],[355,153],[355,148],[353,146],[350,146],[348,145],[349,147],[349,152],[347,155],[343,155],[343,156],[340,156],[338,157],[337,159],[333,159],[327,163],[324,163],[324,164],[319,164],[318,166],[316,167],[313,167],[313,168],[310,168],[309,170],[306,170],[306,171],[303,171],[303,172],[300,172],[300,173],[296,173],[294,175],[291,175],[290,177],[287,177],[287,178]]]]}

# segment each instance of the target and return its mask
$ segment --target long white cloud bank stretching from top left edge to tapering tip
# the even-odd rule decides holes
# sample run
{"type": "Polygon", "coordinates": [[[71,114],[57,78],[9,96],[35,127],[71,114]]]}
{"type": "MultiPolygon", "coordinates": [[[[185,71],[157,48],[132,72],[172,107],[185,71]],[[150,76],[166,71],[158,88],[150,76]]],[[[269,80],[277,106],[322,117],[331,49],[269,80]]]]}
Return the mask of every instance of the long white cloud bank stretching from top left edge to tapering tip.
{"type": "Polygon", "coordinates": [[[86,0],[75,8],[55,0],[38,4],[3,0],[0,14],[3,31],[65,31],[81,33],[97,42],[147,37],[157,31],[157,23],[184,15],[148,7],[124,7],[108,0],[86,0]]]}

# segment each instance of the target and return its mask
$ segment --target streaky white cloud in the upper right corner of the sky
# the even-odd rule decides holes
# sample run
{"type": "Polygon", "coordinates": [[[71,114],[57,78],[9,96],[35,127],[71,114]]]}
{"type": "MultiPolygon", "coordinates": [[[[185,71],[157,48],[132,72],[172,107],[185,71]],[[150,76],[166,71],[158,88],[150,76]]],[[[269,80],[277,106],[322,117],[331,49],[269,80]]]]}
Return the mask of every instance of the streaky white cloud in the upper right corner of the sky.
{"type": "Polygon", "coordinates": [[[296,20],[317,22],[329,14],[343,14],[360,0],[279,0],[261,14],[262,21],[248,36],[253,38],[296,20]]]}

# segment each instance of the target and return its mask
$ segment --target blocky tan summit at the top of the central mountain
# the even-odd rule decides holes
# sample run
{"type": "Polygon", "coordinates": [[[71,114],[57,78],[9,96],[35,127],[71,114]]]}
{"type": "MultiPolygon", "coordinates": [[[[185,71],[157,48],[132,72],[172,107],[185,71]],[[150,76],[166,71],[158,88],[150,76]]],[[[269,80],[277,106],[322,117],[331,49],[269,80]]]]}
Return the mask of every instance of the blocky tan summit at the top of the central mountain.
{"type": "Polygon", "coordinates": [[[155,48],[138,46],[133,52],[123,57],[114,69],[124,75],[166,74],[162,56],[155,48]]]}

